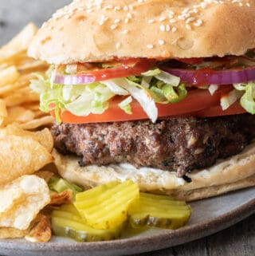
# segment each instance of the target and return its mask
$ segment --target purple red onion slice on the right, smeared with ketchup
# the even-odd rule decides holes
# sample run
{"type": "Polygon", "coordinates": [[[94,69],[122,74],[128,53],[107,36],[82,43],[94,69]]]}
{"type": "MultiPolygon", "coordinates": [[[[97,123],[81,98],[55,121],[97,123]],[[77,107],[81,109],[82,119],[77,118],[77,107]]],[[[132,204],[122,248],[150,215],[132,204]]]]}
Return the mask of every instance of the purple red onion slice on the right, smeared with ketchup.
{"type": "Polygon", "coordinates": [[[188,85],[231,85],[255,80],[255,67],[245,69],[171,69],[161,67],[164,71],[180,77],[188,85]]]}

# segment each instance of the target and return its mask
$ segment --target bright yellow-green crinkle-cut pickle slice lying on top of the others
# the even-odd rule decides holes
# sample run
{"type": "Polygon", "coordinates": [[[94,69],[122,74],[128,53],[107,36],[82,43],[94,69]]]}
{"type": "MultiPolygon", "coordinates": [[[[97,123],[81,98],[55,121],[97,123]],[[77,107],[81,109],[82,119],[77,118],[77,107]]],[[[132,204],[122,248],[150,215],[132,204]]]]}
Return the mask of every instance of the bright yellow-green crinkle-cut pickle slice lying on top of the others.
{"type": "Polygon", "coordinates": [[[114,229],[127,220],[128,207],[139,199],[137,183],[111,182],[78,193],[74,203],[89,226],[114,229]]]}

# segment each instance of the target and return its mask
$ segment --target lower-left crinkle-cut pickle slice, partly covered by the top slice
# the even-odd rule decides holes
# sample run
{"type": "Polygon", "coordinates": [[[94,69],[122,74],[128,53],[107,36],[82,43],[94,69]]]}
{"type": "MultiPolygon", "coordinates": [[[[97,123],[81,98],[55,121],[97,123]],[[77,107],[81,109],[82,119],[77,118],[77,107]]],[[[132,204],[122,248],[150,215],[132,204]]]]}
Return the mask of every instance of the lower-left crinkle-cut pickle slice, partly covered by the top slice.
{"type": "Polygon", "coordinates": [[[53,233],[77,242],[96,242],[120,238],[124,224],[112,230],[97,230],[88,226],[73,204],[63,205],[51,215],[53,233]]]}

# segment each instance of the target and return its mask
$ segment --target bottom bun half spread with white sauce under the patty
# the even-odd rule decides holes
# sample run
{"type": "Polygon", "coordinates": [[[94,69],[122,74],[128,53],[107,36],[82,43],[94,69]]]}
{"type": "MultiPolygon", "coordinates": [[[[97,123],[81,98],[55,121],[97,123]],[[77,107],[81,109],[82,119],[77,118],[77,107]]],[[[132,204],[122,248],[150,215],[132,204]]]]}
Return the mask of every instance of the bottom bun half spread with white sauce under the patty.
{"type": "Polygon", "coordinates": [[[255,142],[237,156],[218,160],[212,167],[192,171],[190,183],[171,171],[149,167],[136,169],[129,163],[80,167],[76,156],[62,156],[56,150],[53,156],[59,174],[84,188],[131,179],[139,184],[140,191],[175,195],[177,199],[192,201],[255,186],[255,142]]]}

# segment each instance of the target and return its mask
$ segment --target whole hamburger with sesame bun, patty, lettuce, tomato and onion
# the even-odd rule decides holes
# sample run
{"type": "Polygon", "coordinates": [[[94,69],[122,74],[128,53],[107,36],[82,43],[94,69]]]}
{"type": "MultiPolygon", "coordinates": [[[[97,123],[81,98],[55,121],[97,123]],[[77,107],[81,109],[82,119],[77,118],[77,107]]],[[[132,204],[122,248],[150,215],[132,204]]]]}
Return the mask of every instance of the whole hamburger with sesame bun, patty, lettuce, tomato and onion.
{"type": "Polygon", "coordinates": [[[255,2],[73,1],[41,27],[31,88],[60,174],[194,200],[255,184],[255,2]]]}

